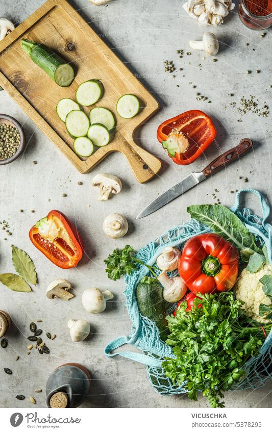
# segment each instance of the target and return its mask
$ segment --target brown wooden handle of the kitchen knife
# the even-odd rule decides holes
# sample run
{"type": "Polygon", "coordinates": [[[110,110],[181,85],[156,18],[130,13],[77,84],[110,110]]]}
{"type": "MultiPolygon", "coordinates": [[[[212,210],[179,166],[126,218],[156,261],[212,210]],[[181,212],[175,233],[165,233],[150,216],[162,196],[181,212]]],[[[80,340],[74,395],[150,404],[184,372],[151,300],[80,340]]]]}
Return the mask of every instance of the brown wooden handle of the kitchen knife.
{"type": "Polygon", "coordinates": [[[226,165],[230,164],[232,161],[236,160],[237,158],[252,149],[252,141],[249,138],[243,138],[238,144],[238,146],[227,150],[224,154],[215,158],[215,160],[213,160],[209,165],[207,165],[207,167],[204,168],[202,173],[205,177],[209,177],[216,171],[220,170],[220,168],[226,167],[226,165]]]}

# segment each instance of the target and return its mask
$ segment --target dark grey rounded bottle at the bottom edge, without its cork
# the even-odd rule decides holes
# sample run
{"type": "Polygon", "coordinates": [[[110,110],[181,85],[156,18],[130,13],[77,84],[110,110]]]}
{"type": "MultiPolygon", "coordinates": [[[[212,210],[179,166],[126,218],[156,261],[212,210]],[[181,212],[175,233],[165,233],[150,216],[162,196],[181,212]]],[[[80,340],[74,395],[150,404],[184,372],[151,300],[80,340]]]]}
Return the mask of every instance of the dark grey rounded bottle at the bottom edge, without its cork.
{"type": "Polygon", "coordinates": [[[78,407],[90,391],[91,377],[88,370],[80,364],[68,363],[58,367],[48,377],[46,383],[46,403],[50,406],[51,397],[63,392],[68,397],[66,407],[78,407]]]}

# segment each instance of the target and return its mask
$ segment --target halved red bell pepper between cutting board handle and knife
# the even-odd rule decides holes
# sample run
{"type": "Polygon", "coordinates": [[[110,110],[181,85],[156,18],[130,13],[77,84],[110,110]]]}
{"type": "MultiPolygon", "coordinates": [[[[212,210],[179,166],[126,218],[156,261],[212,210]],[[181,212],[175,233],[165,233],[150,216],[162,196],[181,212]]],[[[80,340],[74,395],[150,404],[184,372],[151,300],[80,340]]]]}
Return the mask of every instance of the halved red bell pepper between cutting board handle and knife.
{"type": "Polygon", "coordinates": [[[203,111],[190,110],[162,122],[157,138],[168,156],[179,165],[199,158],[216,136],[212,119],[203,111]]]}

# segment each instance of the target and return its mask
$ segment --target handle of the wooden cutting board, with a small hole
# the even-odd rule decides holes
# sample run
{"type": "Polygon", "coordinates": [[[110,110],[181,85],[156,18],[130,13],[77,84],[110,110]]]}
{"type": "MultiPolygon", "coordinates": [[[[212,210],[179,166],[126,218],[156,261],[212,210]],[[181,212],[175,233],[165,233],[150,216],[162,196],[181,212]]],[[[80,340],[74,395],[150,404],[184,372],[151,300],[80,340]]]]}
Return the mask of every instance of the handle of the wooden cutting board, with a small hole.
{"type": "Polygon", "coordinates": [[[125,141],[122,150],[120,148],[118,150],[127,158],[137,181],[140,184],[149,182],[160,171],[161,161],[138,146],[133,139],[125,140],[119,136],[119,140],[125,141]]]}

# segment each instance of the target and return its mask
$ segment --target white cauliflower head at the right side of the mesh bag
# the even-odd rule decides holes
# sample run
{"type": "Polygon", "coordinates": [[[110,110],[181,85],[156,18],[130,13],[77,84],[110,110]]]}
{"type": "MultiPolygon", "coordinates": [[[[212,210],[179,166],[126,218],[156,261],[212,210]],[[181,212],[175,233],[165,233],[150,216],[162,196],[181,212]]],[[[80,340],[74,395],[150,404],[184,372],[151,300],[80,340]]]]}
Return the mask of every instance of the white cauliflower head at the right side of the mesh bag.
{"type": "Polygon", "coordinates": [[[259,282],[259,279],[264,275],[272,275],[272,270],[267,263],[264,263],[254,273],[243,269],[235,284],[234,292],[237,299],[244,301],[243,308],[249,317],[260,323],[271,323],[271,320],[259,316],[260,304],[269,305],[271,303],[270,299],[263,293],[262,284],[259,282]]]}

